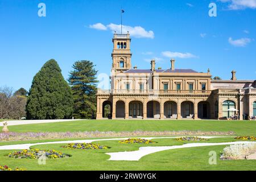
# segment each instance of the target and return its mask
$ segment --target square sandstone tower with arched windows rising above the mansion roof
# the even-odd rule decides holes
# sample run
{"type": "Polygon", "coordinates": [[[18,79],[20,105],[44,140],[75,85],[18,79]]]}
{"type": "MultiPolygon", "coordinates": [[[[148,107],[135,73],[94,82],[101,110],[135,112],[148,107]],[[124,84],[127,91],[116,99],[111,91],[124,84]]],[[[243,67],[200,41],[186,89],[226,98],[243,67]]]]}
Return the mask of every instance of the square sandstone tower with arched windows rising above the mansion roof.
{"type": "Polygon", "coordinates": [[[112,52],[112,69],[115,71],[127,71],[131,69],[131,49],[130,49],[130,34],[114,34],[113,52],[112,52]]]}

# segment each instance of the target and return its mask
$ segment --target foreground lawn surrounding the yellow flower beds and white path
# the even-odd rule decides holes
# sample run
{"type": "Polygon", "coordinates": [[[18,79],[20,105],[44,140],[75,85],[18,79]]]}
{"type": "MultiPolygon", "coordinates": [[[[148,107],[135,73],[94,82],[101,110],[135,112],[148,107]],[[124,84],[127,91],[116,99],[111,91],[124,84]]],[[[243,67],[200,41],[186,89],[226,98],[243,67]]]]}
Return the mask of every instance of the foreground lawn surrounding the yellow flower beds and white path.
{"type": "MultiPolygon", "coordinates": [[[[229,142],[233,138],[214,138],[206,142],[229,142]]],[[[142,146],[172,146],[189,142],[175,139],[154,139],[155,144],[120,144],[117,140],[94,142],[106,145],[108,150],[70,150],[61,148],[64,144],[32,146],[41,150],[53,149],[71,154],[71,158],[47,159],[46,165],[38,160],[13,159],[6,156],[13,150],[0,151],[1,164],[22,167],[28,170],[256,170],[254,160],[220,160],[220,151],[225,146],[208,146],[167,150],[146,155],[139,161],[109,161],[106,152],[134,151],[142,146]],[[217,152],[217,165],[210,165],[209,152],[217,152]]],[[[195,142],[192,142],[195,143],[195,142]]]]}

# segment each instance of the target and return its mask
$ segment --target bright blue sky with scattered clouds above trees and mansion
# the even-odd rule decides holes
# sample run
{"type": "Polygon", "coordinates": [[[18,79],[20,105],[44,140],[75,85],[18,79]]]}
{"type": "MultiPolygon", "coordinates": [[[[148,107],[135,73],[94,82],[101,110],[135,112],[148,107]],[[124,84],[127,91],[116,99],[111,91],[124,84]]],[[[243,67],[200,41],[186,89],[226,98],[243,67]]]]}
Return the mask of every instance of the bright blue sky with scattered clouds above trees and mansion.
{"type": "Polygon", "coordinates": [[[121,22],[132,36],[132,64],[191,68],[223,79],[256,78],[256,0],[36,1],[0,0],[0,87],[29,89],[34,75],[55,59],[68,78],[77,60],[110,73],[112,37],[121,22]],[[217,5],[210,17],[209,3],[217,5]],[[46,17],[38,4],[46,4],[46,17]]]}

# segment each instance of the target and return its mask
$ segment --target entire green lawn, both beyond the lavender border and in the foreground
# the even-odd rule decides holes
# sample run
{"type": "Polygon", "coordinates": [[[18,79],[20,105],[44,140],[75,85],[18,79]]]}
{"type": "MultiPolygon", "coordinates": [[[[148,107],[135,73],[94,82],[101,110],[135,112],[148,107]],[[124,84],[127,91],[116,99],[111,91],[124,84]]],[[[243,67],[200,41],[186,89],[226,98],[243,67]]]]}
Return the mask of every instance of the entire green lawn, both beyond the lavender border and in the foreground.
{"type": "MultiPolygon", "coordinates": [[[[0,129],[1,130],[1,129],[0,129]]],[[[86,120],[32,125],[9,126],[16,132],[65,132],[65,131],[233,131],[237,135],[256,135],[255,121],[159,121],[159,120],[86,120]]],[[[142,137],[141,137],[142,138],[142,137]]],[[[79,138],[83,139],[83,138],[79,138]]],[[[88,138],[86,138],[88,139],[88,138]]],[[[47,139],[31,141],[0,142],[0,146],[19,143],[37,143],[72,139],[47,139]]],[[[146,155],[138,162],[108,161],[106,152],[135,151],[142,146],[173,146],[187,142],[175,139],[154,139],[155,144],[120,144],[117,140],[101,141],[108,150],[68,150],[63,144],[44,144],[32,146],[42,150],[54,149],[71,154],[71,158],[48,159],[46,165],[39,165],[37,160],[13,159],[7,154],[14,150],[0,150],[0,165],[11,168],[21,167],[28,170],[256,170],[254,160],[220,160],[220,151],[225,146],[207,146],[167,150],[146,155]],[[210,165],[209,151],[217,152],[217,165],[210,165]]],[[[231,142],[231,138],[214,138],[207,142],[231,142]]],[[[98,143],[98,142],[95,142],[98,143]]],[[[195,142],[193,142],[195,143],[195,142]]]]}

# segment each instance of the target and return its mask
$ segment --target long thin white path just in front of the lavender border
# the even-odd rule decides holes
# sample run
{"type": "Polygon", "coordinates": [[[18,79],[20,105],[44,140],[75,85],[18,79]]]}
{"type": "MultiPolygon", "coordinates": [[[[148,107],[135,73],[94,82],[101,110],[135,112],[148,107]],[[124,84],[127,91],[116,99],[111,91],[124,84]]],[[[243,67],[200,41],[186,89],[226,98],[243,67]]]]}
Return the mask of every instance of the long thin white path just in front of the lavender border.
{"type": "MultiPolygon", "coordinates": [[[[200,136],[200,137],[201,138],[226,138],[226,137],[205,137],[205,136],[200,136]]],[[[162,138],[180,138],[180,137],[146,137],[144,139],[151,140],[151,139],[162,139],[162,138]]],[[[0,146],[0,150],[22,150],[22,149],[29,149],[31,146],[38,146],[38,145],[41,145],[41,144],[91,143],[91,142],[98,142],[98,141],[105,141],[105,140],[125,140],[125,139],[129,139],[129,138],[106,138],[106,139],[67,140],[67,141],[57,141],[57,142],[11,144],[11,145],[6,145],[6,146],[0,146]]]]}

